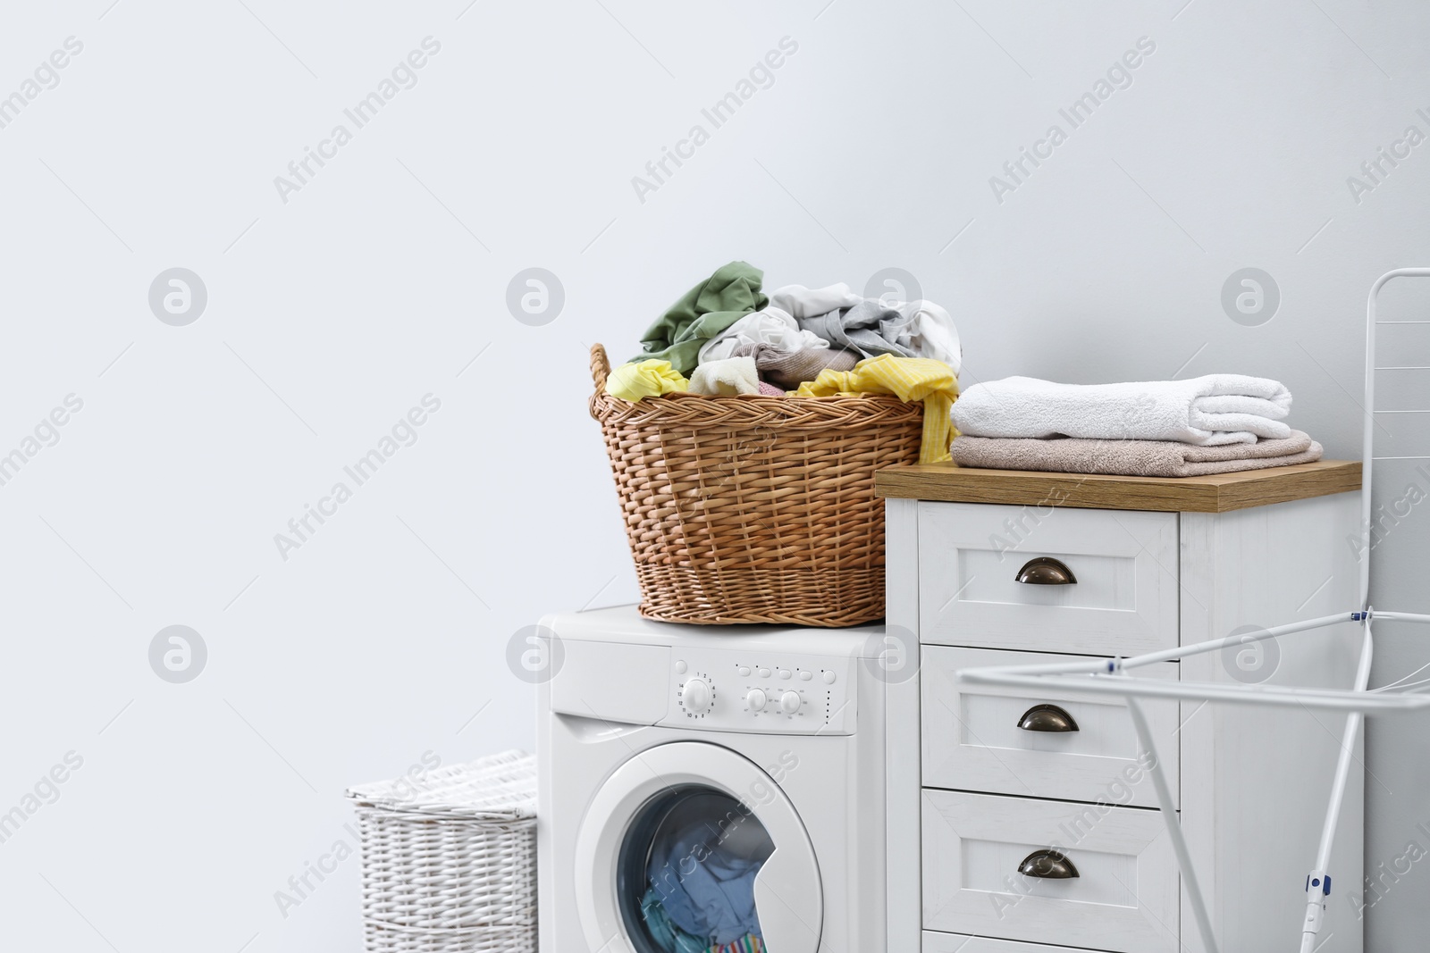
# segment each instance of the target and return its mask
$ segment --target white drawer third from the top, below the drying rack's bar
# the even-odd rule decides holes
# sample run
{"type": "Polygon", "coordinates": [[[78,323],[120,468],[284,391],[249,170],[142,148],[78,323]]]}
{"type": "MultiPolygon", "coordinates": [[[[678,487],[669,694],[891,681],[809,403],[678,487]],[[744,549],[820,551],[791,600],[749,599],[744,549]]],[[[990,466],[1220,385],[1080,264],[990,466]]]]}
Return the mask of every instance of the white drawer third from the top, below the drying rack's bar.
{"type": "Polygon", "coordinates": [[[1175,953],[1178,874],[1158,812],[925,790],[924,927],[1114,953],[1175,953]],[[1077,877],[1018,873],[1061,850],[1077,877]]]}

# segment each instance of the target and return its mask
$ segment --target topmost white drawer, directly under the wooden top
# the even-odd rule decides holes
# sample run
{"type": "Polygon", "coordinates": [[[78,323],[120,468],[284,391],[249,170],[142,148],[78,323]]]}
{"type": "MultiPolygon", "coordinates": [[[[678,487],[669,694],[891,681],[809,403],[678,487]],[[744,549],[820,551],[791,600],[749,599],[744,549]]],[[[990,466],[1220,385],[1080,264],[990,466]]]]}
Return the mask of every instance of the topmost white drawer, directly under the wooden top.
{"type": "Polygon", "coordinates": [[[919,639],[1107,656],[1170,649],[1178,557],[1175,513],[921,502],[919,639]],[[1040,559],[1075,582],[1018,582],[1040,559]]]}

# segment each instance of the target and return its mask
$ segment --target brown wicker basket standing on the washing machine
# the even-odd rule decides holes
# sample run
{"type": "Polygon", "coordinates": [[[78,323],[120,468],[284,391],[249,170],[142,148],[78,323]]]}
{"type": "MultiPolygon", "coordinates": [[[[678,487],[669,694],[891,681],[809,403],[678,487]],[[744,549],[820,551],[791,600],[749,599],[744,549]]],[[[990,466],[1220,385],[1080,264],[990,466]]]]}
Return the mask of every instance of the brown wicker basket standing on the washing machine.
{"type": "Polygon", "coordinates": [[[924,407],[898,397],[606,393],[601,423],[641,614],[664,622],[855,626],[884,616],[874,471],[918,460],[924,407]]]}

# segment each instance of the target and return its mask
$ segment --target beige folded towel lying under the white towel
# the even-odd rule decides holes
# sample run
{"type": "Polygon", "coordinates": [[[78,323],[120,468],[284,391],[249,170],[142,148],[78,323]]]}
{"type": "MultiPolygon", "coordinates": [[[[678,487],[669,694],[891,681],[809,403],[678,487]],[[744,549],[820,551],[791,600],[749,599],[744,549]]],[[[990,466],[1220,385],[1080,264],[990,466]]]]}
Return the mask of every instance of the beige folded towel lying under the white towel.
{"type": "Polygon", "coordinates": [[[1321,444],[1300,430],[1290,437],[1204,447],[1175,440],[1081,440],[1077,437],[965,437],[952,446],[954,463],[992,470],[1107,473],[1183,477],[1284,467],[1321,459],[1321,444]]]}

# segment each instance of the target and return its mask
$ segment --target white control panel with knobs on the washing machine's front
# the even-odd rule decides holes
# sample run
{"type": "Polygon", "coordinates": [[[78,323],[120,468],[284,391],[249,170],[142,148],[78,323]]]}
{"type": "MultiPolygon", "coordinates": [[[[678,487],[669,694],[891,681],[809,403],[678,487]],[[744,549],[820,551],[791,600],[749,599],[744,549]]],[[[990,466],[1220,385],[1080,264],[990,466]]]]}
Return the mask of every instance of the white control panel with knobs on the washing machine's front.
{"type": "Polygon", "coordinates": [[[859,660],[671,647],[674,703],[662,724],[712,732],[852,734],[859,660]]]}

